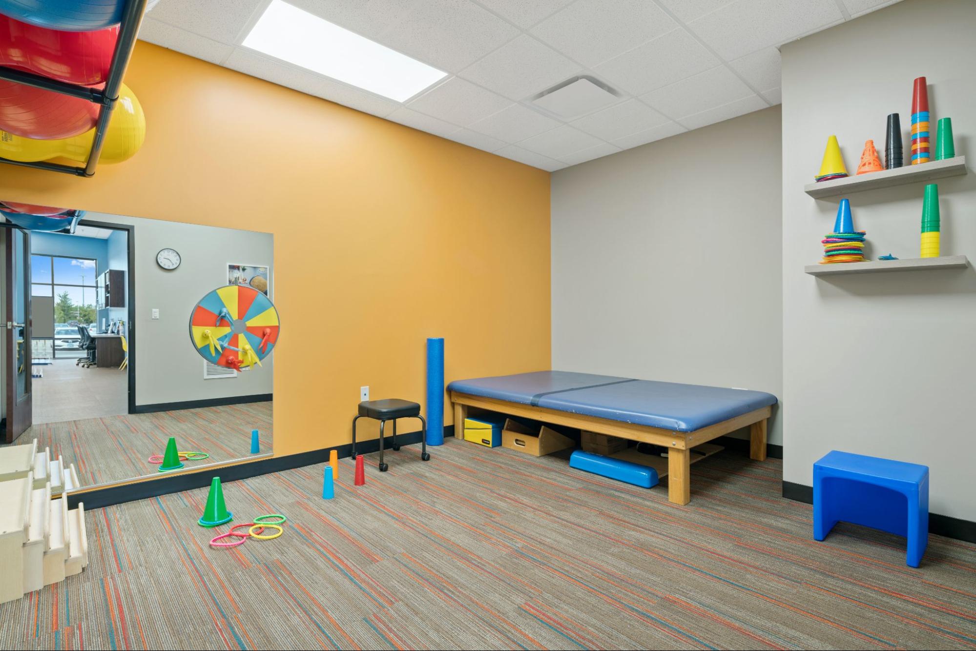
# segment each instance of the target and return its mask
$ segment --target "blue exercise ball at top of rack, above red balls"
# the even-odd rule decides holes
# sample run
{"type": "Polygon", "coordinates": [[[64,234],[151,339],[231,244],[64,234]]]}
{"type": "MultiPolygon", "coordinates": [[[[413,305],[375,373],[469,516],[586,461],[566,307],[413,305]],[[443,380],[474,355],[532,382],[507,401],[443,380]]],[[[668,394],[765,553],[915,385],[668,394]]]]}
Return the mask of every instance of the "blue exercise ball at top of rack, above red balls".
{"type": "Polygon", "coordinates": [[[95,31],[121,22],[126,1],[0,0],[0,14],[48,29],[95,31]]]}

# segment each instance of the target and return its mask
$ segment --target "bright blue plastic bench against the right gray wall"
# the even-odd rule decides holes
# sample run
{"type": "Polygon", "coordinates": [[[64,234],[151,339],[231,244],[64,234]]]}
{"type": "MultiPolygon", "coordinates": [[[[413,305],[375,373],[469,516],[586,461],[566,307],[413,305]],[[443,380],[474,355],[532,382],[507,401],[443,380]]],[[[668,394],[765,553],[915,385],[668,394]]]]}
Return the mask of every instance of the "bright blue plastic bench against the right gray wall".
{"type": "Polygon", "coordinates": [[[905,536],[905,562],[918,567],[928,546],[928,467],[829,452],[813,465],[814,540],[839,521],[905,536]]]}

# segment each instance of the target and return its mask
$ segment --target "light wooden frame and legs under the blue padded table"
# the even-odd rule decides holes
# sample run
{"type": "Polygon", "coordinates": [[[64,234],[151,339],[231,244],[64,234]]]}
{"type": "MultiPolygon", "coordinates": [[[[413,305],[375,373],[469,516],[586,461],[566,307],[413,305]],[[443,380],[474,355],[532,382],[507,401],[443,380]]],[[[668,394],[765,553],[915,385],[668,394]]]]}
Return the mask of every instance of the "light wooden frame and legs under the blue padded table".
{"type": "Polygon", "coordinates": [[[487,409],[509,416],[519,416],[553,425],[579,427],[610,436],[620,436],[633,441],[653,443],[669,449],[668,453],[668,500],[674,504],[685,505],[691,500],[691,459],[689,450],[696,445],[707,443],[741,427],[750,427],[749,456],[756,461],[766,460],[766,427],[773,412],[772,407],[762,407],[748,414],[730,418],[694,431],[674,431],[660,427],[634,425],[622,421],[610,421],[596,416],[584,416],[570,412],[557,411],[546,407],[535,407],[499,398],[486,398],[469,393],[450,391],[454,404],[454,436],[464,438],[464,422],[468,418],[468,408],[487,409]]]}

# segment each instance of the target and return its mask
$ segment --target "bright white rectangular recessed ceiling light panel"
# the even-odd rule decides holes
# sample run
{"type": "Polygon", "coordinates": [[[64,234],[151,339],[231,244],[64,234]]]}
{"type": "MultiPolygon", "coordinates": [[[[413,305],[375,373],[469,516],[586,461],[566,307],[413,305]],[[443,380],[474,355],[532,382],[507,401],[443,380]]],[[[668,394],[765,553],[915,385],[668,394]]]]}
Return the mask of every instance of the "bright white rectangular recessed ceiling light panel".
{"type": "Polygon", "coordinates": [[[396,102],[447,76],[282,0],[267,6],[243,45],[396,102]]]}

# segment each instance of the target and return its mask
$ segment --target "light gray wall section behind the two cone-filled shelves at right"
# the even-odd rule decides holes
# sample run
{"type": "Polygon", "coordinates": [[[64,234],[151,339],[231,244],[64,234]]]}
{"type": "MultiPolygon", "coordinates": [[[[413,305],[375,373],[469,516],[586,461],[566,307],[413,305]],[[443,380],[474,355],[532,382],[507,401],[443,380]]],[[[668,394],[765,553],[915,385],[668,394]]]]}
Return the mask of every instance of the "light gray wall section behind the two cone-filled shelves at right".
{"type": "MultiPolygon", "coordinates": [[[[816,279],[838,199],[803,192],[837,136],[849,173],[925,75],[932,127],[976,154],[976,2],[907,0],[783,47],[784,479],[832,449],[929,466],[933,512],[976,520],[976,271],[816,279]],[[921,45],[919,45],[921,44],[921,45]],[[917,46],[917,47],[916,47],[917,46]],[[834,64],[836,63],[836,64],[834,64]]],[[[933,140],[934,142],[934,140],[933,140]]],[[[941,180],[942,254],[976,258],[976,174],[941,180]]],[[[918,257],[923,183],[849,195],[868,256],[918,257]]]]}

